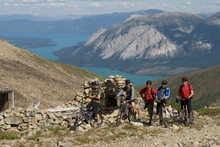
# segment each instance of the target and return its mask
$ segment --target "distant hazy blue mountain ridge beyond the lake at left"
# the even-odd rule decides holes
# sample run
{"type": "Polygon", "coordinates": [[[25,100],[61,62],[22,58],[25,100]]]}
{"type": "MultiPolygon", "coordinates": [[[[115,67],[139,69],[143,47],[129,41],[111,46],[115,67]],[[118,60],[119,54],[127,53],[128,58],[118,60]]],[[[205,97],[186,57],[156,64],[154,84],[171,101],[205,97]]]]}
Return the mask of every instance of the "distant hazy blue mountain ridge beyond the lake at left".
{"type": "Polygon", "coordinates": [[[31,20],[5,20],[0,23],[1,33],[61,33],[61,34],[92,34],[99,27],[110,28],[125,21],[131,15],[146,15],[160,13],[160,10],[143,10],[113,14],[94,15],[74,20],[31,21],[31,20]]]}

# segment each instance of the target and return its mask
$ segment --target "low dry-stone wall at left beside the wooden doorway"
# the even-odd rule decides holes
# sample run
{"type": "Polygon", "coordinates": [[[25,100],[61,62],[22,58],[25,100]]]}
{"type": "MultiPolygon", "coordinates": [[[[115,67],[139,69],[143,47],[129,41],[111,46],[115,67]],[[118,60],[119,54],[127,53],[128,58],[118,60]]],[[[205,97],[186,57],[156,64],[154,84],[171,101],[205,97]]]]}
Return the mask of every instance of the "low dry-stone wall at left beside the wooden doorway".
{"type": "Polygon", "coordinates": [[[65,116],[62,112],[49,112],[47,110],[7,109],[0,113],[0,128],[14,131],[32,131],[39,127],[67,127],[73,123],[72,118],[65,116]]]}

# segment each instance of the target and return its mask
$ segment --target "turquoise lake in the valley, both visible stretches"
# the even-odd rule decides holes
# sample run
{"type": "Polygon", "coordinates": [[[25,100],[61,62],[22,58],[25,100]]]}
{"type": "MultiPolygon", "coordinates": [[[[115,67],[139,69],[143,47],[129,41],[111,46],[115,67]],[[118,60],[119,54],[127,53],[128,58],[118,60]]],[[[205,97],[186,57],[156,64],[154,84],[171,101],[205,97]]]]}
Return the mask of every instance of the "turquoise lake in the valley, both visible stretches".
{"type": "MultiPolygon", "coordinates": [[[[57,46],[51,47],[40,47],[40,48],[29,48],[26,49],[31,51],[43,58],[50,60],[57,60],[58,57],[53,55],[54,51],[57,51],[64,47],[74,46],[80,41],[87,41],[92,36],[91,34],[26,34],[26,33],[0,33],[1,36],[8,37],[32,37],[32,38],[50,38],[57,46]]],[[[4,38],[3,38],[4,39],[4,38]]],[[[157,80],[165,78],[164,76],[146,76],[146,75],[132,75],[129,73],[121,72],[119,70],[111,70],[109,68],[99,67],[81,67],[83,69],[97,73],[105,78],[109,75],[122,75],[126,79],[131,80],[134,86],[144,84],[147,80],[157,80]]]]}

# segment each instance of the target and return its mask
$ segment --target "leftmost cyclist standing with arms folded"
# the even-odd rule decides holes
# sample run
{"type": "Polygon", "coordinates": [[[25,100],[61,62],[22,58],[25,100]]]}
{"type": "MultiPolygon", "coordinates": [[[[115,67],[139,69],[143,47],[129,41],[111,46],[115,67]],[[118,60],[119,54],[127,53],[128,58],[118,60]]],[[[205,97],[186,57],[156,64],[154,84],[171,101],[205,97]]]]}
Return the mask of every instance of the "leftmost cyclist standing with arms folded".
{"type": "Polygon", "coordinates": [[[99,81],[94,81],[94,87],[89,91],[89,98],[91,102],[89,102],[86,106],[86,109],[89,110],[93,107],[93,114],[97,116],[97,127],[100,127],[99,123],[99,104],[100,104],[101,90],[99,90],[99,81]]]}

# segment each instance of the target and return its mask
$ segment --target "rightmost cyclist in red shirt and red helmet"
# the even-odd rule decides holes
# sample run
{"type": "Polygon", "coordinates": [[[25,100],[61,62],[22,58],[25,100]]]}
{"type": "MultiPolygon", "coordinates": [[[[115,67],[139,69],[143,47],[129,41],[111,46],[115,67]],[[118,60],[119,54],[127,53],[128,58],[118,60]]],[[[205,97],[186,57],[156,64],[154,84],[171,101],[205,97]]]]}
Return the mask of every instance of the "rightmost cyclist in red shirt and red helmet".
{"type": "Polygon", "coordinates": [[[182,78],[182,85],[179,87],[179,91],[177,94],[176,102],[180,101],[181,96],[181,110],[183,109],[184,101],[188,108],[188,113],[190,114],[190,119],[192,117],[192,107],[191,107],[191,99],[194,95],[192,85],[188,84],[188,79],[186,77],[182,78]]]}

